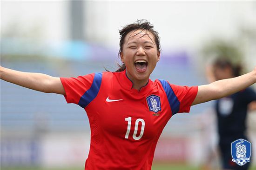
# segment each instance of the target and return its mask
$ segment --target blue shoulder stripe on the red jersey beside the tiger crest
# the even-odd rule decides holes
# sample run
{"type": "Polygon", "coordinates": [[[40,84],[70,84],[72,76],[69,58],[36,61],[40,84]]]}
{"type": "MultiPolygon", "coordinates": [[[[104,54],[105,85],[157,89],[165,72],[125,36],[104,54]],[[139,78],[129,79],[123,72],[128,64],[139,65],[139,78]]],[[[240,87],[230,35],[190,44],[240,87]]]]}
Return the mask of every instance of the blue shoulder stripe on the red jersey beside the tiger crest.
{"type": "Polygon", "coordinates": [[[158,79],[158,80],[161,82],[162,87],[165,91],[165,94],[168,98],[168,102],[172,110],[172,115],[175,115],[180,110],[180,101],[178,100],[177,96],[175,95],[175,93],[173,92],[171,86],[167,81],[163,79],[158,79]]]}

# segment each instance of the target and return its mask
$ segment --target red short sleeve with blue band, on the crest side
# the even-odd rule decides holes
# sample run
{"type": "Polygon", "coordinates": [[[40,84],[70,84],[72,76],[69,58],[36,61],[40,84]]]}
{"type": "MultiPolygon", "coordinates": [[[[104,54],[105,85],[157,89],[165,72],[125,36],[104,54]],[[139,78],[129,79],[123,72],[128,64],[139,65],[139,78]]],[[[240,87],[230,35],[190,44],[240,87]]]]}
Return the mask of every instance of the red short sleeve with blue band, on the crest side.
{"type": "Polygon", "coordinates": [[[159,79],[168,98],[172,115],[176,113],[189,112],[195,100],[198,86],[172,85],[168,81],[159,79]]]}

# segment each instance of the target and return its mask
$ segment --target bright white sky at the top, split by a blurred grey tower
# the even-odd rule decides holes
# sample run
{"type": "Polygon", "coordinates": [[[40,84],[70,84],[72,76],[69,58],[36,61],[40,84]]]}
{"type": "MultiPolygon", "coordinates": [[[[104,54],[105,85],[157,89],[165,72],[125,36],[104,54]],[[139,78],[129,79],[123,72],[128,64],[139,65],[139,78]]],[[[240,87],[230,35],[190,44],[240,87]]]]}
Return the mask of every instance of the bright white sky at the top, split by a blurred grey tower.
{"type": "MultiPolygon", "coordinates": [[[[1,33],[69,39],[70,4],[2,1],[1,33]]],[[[163,49],[194,48],[213,36],[234,37],[241,26],[255,28],[255,9],[255,1],[84,1],[84,33],[89,41],[116,48],[121,26],[147,19],[160,33],[163,49]]]]}

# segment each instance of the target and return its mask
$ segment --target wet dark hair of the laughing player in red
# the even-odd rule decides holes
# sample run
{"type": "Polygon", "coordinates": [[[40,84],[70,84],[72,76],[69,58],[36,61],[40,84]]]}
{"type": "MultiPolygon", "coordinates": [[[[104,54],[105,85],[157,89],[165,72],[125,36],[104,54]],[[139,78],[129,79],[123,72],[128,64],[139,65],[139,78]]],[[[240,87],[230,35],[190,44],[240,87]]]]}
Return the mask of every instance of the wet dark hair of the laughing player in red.
{"type": "MultiPolygon", "coordinates": [[[[118,56],[120,57],[120,54],[122,52],[122,47],[124,44],[124,40],[125,37],[128,33],[130,33],[131,31],[136,31],[136,30],[141,30],[142,31],[148,31],[149,33],[152,33],[155,39],[155,45],[157,48],[158,52],[161,52],[161,46],[160,46],[160,37],[158,35],[158,33],[154,30],[154,26],[152,24],[150,24],[150,22],[148,20],[137,20],[135,23],[133,24],[128,24],[126,26],[124,26],[121,30],[119,30],[119,34],[120,34],[120,42],[119,42],[119,52],[118,52],[118,56]]],[[[152,39],[153,41],[153,39],[152,39]]],[[[116,70],[115,72],[122,72],[125,70],[126,66],[125,64],[119,65],[120,67],[118,70],[116,70]]]]}

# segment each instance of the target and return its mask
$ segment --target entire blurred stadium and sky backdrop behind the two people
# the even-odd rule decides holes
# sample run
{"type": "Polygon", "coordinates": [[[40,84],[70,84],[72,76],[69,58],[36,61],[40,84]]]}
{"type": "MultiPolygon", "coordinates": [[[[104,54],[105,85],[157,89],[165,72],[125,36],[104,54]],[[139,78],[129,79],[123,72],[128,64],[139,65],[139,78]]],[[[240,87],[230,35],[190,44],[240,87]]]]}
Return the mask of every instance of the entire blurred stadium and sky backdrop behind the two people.
{"type": "MultiPolygon", "coordinates": [[[[242,54],[246,71],[256,65],[256,1],[0,3],[1,65],[19,71],[56,77],[103,72],[104,67],[115,71],[118,29],[137,19],[149,20],[161,37],[162,58],[151,79],[206,84],[205,65],[223,46],[242,54]]],[[[83,109],[67,105],[63,96],[4,81],[0,90],[2,170],[84,168],[90,130],[83,109]]],[[[171,118],[156,147],[153,170],[220,169],[213,104],[171,118]]],[[[253,112],[248,133],[256,144],[253,112]]],[[[250,170],[256,170],[256,157],[251,162],[250,170]]]]}

